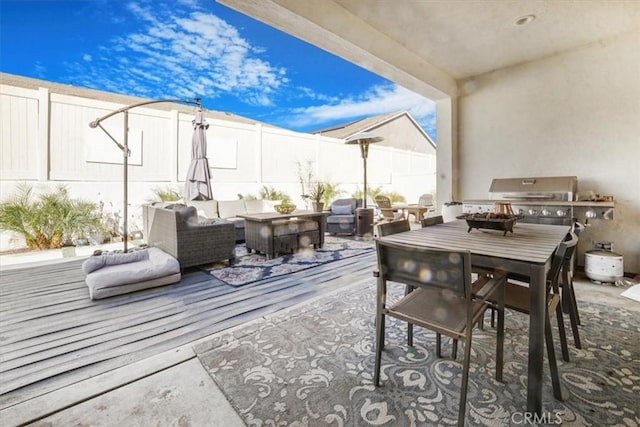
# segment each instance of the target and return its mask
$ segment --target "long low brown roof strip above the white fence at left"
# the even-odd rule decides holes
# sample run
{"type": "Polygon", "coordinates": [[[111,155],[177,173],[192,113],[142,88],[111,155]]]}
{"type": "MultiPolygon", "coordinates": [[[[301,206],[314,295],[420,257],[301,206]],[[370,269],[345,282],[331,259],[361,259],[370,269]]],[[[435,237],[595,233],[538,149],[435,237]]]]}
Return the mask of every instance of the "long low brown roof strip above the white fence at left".
{"type": "MultiPolygon", "coordinates": [[[[135,104],[135,103],[144,102],[147,100],[148,101],[153,100],[153,99],[147,99],[147,98],[139,98],[137,96],[121,95],[121,94],[112,93],[112,92],[104,92],[96,89],[87,89],[79,86],[54,83],[46,80],[39,80],[31,77],[23,77],[23,76],[18,76],[15,74],[7,74],[7,73],[0,73],[0,84],[4,84],[8,86],[17,86],[17,87],[22,87],[26,89],[38,89],[40,87],[44,87],[49,89],[52,93],[56,93],[60,95],[78,96],[82,98],[96,99],[99,101],[114,102],[117,104],[124,104],[124,105],[135,104]]],[[[186,104],[179,104],[179,103],[171,103],[171,102],[146,105],[145,108],[152,108],[152,109],[162,110],[162,111],[177,110],[182,113],[193,113],[193,106],[189,106],[186,104]]],[[[207,110],[206,108],[204,108],[204,110],[207,113],[207,117],[211,119],[226,120],[230,122],[243,123],[243,124],[249,124],[249,125],[259,123],[263,126],[278,128],[277,126],[273,126],[268,123],[259,122],[256,120],[238,116],[232,113],[227,113],[224,111],[207,110]]]]}

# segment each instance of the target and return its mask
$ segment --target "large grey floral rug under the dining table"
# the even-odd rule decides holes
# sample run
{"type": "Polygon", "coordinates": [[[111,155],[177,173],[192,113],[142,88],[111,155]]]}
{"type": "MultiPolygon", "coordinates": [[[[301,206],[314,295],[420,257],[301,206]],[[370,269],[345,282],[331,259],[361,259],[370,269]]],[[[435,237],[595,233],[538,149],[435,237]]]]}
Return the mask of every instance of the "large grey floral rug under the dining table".
{"type": "MultiPolygon", "coordinates": [[[[404,287],[392,286],[395,297],[404,287]]],[[[525,315],[506,315],[504,383],[496,382],[495,330],[474,331],[467,425],[640,425],[640,319],[618,308],[580,304],[583,349],[559,360],[564,401],[545,361],[544,421],[525,422],[525,315]]],[[[387,318],[381,387],[372,383],[375,287],[343,292],[218,336],[198,357],[248,426],[455,425],[462,360],[447,341],[387,318]]],[[[488,324],[488,322],[486,322],[488,324]]],[[[555,322],[553,322],[555,324],[555,322]]],[[[554,330],[557,338],[557,330],[554,330]]],[[[559,349],[556,354],[559,354],[559,349]]]]}

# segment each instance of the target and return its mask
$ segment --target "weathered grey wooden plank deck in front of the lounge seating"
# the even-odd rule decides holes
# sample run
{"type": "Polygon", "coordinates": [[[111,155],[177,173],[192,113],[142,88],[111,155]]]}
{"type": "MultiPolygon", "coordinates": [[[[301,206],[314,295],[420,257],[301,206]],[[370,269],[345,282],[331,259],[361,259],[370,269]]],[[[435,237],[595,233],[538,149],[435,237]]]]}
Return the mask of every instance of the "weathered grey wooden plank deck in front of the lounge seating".
{"type": "Polygon", "coordinates": [[[375,252],[234,288],[182,281],[91,301],[82,260],[0,272],[0,410],[341,287],[373,280],[375,252]]]}

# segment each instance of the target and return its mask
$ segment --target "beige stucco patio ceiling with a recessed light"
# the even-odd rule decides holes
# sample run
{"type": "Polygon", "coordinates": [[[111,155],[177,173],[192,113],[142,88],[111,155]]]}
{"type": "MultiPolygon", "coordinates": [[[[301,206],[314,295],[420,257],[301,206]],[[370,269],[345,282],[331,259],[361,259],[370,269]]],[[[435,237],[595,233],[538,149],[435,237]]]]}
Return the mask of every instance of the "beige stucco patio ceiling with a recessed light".
{"type": "Polygon", "coordinates": [[[473,76],[640,31],[637,0],[218,1],[432,99],[473,76]]]}

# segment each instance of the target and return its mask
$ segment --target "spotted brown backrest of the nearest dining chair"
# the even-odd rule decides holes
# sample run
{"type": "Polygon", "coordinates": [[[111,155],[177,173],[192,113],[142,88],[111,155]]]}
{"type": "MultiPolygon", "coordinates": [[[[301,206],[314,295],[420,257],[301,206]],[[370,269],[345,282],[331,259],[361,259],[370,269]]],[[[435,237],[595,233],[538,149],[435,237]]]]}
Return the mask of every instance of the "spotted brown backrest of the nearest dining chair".
{"type": "Polygon", "coordinates": [[[380,279],[471,297],[471,255],[376,240],[380,279]]]}

